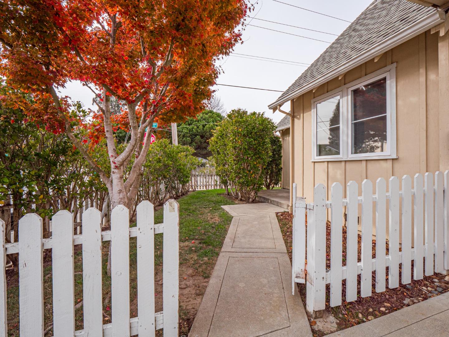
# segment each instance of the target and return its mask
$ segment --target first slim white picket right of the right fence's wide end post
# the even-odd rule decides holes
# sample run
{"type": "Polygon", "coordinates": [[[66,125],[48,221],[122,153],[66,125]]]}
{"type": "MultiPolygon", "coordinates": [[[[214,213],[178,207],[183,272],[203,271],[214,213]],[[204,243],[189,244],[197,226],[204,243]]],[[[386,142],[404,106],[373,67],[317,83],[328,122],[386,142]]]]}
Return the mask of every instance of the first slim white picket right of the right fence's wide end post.
{"type": "Polygon", "coordinates": [[[330,190],[330,306],[341,305],[343,247],[343,187],[339,182],[330,190]]]}

